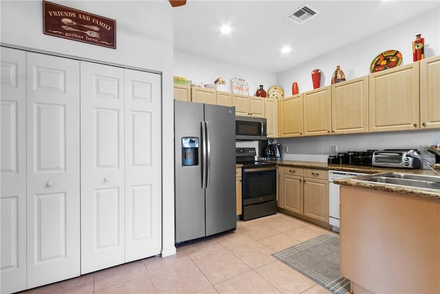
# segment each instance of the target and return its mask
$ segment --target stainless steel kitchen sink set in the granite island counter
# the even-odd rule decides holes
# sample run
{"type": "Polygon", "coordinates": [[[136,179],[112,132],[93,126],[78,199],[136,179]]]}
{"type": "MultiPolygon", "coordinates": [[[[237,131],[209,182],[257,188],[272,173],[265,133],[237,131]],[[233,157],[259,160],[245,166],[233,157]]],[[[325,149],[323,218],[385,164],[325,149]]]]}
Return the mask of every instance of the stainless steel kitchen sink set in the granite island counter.
{"type": "Polygon", "coordinates": [[[440,176],[425,176],[403,173],[386,173],[353,178],[356,181],[377,182],[385,185],[433,189],[440,191],[440,176]]]}

